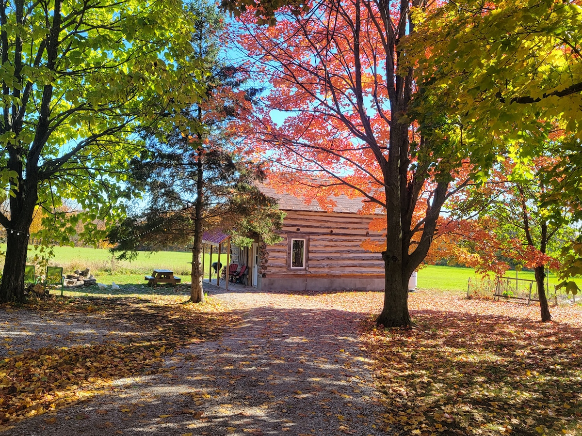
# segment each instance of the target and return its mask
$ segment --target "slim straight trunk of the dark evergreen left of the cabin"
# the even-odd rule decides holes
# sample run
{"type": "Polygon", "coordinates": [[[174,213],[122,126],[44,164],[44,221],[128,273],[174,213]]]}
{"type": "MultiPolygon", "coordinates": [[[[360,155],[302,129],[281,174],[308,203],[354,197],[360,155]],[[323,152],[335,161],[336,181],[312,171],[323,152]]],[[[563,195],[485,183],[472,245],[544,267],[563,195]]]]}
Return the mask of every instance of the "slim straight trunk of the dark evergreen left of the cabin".
{"type": "MultiPolygon", "coordinates": [[[[202,147],[198,148],[197,179],[196,179],[196,203],[194,205],[194,244],[192,245],[192,272],[190,285],[190,301],[194,303],[204,302],[204,289],[202,285],[202,208],[204,207],[204,171],[202,162],[202,147]]],[[[212,259],[211,259],[212,262],[212,259]]]]}

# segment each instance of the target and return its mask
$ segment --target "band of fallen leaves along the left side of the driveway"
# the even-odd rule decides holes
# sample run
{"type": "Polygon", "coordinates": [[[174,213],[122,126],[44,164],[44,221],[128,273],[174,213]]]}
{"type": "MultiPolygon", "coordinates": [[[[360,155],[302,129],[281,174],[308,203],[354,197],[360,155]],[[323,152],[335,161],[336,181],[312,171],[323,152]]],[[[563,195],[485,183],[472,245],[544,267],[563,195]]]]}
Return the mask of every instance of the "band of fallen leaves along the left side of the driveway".
{"type": "Polygon", "coordinates": [[[136,335],[124,342],[42,348],[0,360],[0,428],[83,401],[119,378],[166,371],[165,356],[189,342],[217,338],[230,322],[215,301],[176,306],[131,298],[74,299],[51,308],[122,319],[133,324],[136,335]]]}

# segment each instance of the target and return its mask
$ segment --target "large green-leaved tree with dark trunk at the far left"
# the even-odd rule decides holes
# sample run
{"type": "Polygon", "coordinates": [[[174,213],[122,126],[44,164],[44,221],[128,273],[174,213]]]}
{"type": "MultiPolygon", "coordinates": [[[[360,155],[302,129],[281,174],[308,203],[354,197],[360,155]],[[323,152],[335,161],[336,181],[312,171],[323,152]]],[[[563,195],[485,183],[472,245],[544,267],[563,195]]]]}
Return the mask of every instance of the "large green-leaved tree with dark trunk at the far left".
{"type": "MultiPolygon", "coordinates": [[[[0,214],[7,229],[0,301],[23,299],[29,228],[38,205],[56,211],[69,199],[80,213],[56,214],[86,226],[115,215],[129,159],[143,143],[136,132],[196,101],[201,74],[189,58],[182,4],[140,0],[0,3],[2,117],[0,214]]],[[[95,226],[93,226],[95,227],[95,226]]]]}

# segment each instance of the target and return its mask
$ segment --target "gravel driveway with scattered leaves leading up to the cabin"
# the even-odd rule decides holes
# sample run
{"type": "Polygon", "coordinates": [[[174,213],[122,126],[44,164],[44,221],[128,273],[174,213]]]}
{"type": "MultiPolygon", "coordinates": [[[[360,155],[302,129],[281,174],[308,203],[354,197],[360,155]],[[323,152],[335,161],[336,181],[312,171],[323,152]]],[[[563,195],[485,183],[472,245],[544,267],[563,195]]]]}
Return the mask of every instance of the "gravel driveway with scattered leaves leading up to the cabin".
{"type": "Polygon", "coordinates": [[[359,313],[323,308],[317,297],[219,292],[243,319],[219,341],[173,353],[166,374],[120,380],[107,394],[3,434],[391,434],[379,424],[359,313]]]}

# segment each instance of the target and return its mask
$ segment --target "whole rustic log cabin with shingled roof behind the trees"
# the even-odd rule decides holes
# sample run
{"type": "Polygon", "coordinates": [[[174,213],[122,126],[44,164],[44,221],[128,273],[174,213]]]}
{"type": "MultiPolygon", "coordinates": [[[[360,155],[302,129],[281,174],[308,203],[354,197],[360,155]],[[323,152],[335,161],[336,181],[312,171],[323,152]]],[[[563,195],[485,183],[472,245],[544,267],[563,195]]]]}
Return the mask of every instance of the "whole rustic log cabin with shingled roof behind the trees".
{"type": "Polygon", "coordinates": [[[335,196],[328,212],[318,202],[258,187],[278,200],[286,217],[278,244],[257,239],[250,249],[232,247],[232,262],[249,266],[247,285],[264,291],[384,290],[381,253],[361,246],[365,240],[385,244],[385,233],[369,227],[382,215],[361,215],[363,198],[335,196]]]}

